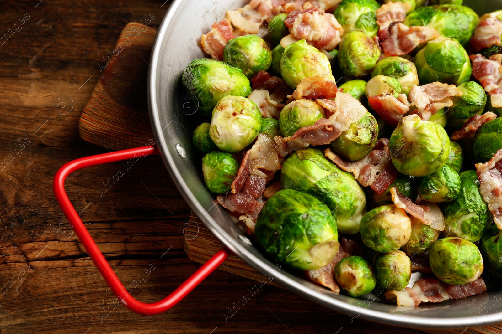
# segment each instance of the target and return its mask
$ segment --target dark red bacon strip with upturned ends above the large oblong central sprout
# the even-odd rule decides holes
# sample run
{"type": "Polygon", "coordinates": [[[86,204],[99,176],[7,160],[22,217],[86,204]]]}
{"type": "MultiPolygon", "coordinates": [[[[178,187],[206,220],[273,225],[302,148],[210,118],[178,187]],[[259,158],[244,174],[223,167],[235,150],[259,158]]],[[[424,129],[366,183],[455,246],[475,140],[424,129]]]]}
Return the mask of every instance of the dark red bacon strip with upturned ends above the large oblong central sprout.
{"type": "Polygon", "coordinates": [[[344,171],[354,174],[354,178],[362,186],[371,186],[379,195],[382,195],[399,175],[392,164],[387,138],[380,139],[373,150],[361,160],[344,161],[330,148],[324,151],[324,155],[344,171]]]}

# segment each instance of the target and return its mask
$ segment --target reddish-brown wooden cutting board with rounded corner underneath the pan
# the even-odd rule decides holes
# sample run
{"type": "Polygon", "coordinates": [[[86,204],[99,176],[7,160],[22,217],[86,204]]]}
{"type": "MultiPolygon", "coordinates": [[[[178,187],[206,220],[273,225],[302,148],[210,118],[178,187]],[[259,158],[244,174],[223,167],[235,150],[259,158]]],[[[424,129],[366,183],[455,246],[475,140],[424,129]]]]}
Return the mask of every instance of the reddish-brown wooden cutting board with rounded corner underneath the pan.
{"type": "MultiPolygon", "coordinates": [[[[123,150],[143,146],[153,138],[146,83],[156,33],[139,23],[129,23],[122,30],[115,47],[117,52],[104,67],[80,116],[78,127],[83,140],[110,150],[123,150]]],[[[195,214],[190,215],[185,225],[184,249],[192,260],[204,263],[223,247],[195,214]]],[[[263,278],[235,255],[230,255],[218,269],[257,281],[263,278]]],[[[278,286],[274,281],[271,284],[278,286]]],[[[433,334],[502,334],[502,324],[421,330],[433,334]]]]}

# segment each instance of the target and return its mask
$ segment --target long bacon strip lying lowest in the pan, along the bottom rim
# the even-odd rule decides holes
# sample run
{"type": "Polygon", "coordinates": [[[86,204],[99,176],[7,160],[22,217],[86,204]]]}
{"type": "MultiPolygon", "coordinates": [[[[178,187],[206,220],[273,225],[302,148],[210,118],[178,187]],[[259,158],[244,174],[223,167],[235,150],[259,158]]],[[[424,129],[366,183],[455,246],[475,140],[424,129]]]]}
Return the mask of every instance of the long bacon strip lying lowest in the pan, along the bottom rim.
{"type": "Polygon", "coordinates": [[[400,306],[418,306],[421,302],[441,302],[448,299],[461,299],[486,291],[484,280],[479,277],[464,285],[450,285],[437,278],[422,278],[401,291],[387,291],[387,299],[397,298],[400,306]]]}

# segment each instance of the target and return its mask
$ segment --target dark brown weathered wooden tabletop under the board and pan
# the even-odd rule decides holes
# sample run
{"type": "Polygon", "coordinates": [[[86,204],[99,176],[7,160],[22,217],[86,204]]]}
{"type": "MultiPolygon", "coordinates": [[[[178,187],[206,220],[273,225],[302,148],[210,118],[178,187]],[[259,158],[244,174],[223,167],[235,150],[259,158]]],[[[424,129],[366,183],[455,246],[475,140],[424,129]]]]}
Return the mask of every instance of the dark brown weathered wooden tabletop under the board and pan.
{"type": "MultiPolygon", "coordinates": [[[[220,270],[163,314],[116,304],[56,203],[52,179],[72,159],[107,152],[80,139],[78,117],[121,29],[151,13],[157,27],[164,1],[2,2],[0,34],[12,36],[0,42],[0,332],[419,332],[350,318],[269,285],[225,319],[255,282],[220,270]]],[[[144,87],[137,98],[146,98],[144,87]]],[[[118,277],[153,302],[200,266],[183,252],[190,208],[159,157],[141,159],[100,192],[119,169],[76,172],[66,189],[118,277]]]]}

